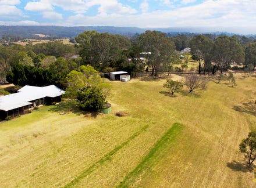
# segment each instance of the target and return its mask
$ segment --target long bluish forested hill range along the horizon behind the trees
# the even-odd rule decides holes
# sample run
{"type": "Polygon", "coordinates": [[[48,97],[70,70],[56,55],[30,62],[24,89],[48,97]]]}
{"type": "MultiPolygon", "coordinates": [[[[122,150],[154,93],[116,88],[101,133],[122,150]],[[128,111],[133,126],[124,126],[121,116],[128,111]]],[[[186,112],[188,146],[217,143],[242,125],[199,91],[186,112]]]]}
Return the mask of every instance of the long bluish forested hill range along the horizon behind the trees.
{"type": "Polygon", "coordinates": [[[63,26],[0,26],[0,38],[3,35],[11,35],[22,38],[72,38],[87,30],[98,32],[109,32],[109,34],[120,34],[126,37],[133,37],[146,30],[157,30],[166,32],[169,35],[177,34],[198,34],[209,33],[216,35],[234,35],[229,32],[216,32],[213,28],[207,27],[172,27],[172,28],[138,28],[138,27],[112,27],[112,26],[81,26],[81,27],[63,27],[63,26]]]}

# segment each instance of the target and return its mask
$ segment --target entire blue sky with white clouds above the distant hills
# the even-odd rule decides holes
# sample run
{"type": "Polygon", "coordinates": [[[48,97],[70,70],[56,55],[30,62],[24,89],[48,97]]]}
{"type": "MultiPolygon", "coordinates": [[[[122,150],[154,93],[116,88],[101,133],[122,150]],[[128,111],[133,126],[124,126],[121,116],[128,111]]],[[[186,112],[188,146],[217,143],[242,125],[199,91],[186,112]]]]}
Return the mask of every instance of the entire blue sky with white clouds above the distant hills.
{"type": "Polygon", "coordinates": [[[1,26],[209,27],[256,34],[256,0],[0,0],[1,26]]]}

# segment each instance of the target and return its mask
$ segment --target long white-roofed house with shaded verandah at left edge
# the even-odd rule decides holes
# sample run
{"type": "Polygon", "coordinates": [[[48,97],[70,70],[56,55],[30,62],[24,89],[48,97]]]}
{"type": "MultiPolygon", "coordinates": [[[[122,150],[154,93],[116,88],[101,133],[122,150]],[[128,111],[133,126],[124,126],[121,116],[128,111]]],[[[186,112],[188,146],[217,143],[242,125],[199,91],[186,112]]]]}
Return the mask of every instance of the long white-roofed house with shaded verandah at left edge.
{"type": "Polygon", "coordinates": [[[0,97],[0,118],[26,114],[31,107],[59,102],[65,91],[55,85],[44,87],[26,85],[17,93],[0,97]]]}

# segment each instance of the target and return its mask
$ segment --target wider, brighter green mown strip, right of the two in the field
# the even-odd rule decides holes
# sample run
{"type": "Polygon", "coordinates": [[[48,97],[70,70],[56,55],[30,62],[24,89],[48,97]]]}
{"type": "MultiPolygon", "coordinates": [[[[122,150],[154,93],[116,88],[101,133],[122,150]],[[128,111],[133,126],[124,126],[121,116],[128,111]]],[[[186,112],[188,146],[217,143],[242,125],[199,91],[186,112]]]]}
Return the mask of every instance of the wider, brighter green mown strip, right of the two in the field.
{"type": "Polygon", "coordinates": [[[172,128],[170,128],[160,140],[155,144],[155,146],[150,150],[147,156],[137,165],[137,167],[131,171],[125,179],[118,185],[118,187],[129,187],[131,183],[143,172],[147,173],[150,169],[159,161],[159,158],[165,154],[165,150],[174,142],[179,133],[184,128],[184,125],[175,123],[172,128]]]}

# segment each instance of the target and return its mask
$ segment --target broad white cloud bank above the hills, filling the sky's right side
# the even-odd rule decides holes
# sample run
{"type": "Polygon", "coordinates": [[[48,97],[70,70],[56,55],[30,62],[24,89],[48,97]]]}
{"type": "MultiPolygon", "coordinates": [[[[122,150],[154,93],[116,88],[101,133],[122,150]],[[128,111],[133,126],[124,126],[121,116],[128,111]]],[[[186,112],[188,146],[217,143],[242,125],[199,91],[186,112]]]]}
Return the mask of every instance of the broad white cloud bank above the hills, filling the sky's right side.
{"type": "MultiPolygon", "coordinates": [[[[147,2],[145,2],[147,3],[147,2]]],[[[144,12],[141,15],[76,15],[67,20],[69,26],[131,27],[251,27],[256,26],[256,1],[218,0],[199,5],[144,12]]],[[[141,6],[143,8],[143,6],[141,6]]],[[[144,10],[147,6],[144,6],[144,10]]]]}

